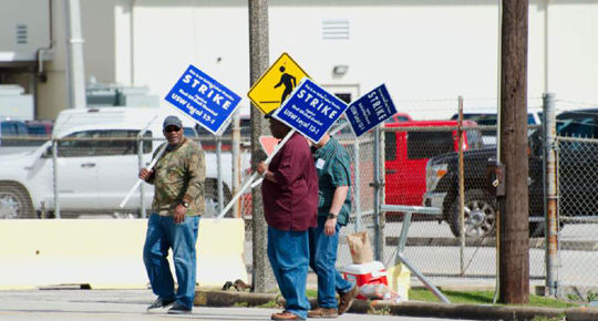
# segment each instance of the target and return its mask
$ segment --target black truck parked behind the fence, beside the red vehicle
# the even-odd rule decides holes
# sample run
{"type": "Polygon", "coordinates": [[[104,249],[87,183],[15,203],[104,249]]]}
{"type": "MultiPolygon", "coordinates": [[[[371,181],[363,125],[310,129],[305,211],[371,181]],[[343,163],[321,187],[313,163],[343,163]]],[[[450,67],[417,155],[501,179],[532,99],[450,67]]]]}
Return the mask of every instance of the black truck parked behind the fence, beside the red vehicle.
{"type": "MultiPolygon", "coordinates": [[[[557,115],[557,135],[598,138],[598,108],[565,112],[557,115]]],[[[544,216],[543,144],[540,130],[529,138],[529,216],[544,216]]],[[[466,151],[463,154],[465,178],[465,230],[471,237],[494,231],[495,198],[486,193],[486,167],[496,158],[496,147],[466,151]]],[[[424,206],[442,208],[443,217],[455,236],[461,235],[458,213],[458,154],[431,158],[426,165],[424,206]]],[[[598,149],[596,144],[560,139],[559,209],[561,216],[598,214],[598,149]],[[595,147],[594,149],[590,147],[595,147]]],[[[530,220],[530,236],[543,236],[544,224],[530,220]]]]}

